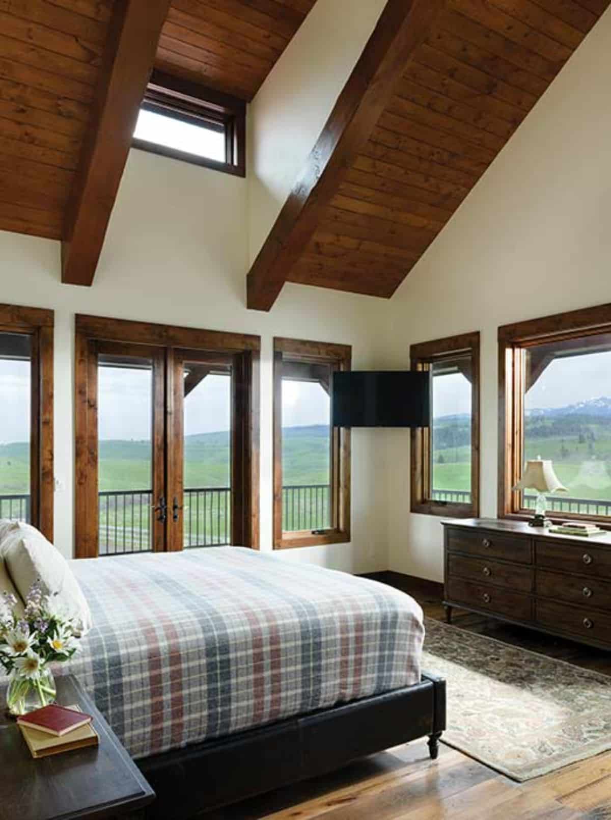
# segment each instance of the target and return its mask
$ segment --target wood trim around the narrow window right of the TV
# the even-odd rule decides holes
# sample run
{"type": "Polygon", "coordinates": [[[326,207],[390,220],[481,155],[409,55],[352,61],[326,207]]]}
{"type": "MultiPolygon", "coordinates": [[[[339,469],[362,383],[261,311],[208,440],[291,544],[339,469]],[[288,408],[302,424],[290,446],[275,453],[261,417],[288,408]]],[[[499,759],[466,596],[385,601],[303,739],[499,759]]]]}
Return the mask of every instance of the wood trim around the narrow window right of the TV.
{"type": "Polygon", "coordinates": [[[412,344],[412,370],[428,370],[433,362],[454,358],[458,353],[471,355],[471,503],[431,499],[430,427],[411,431],[411,512],[426,515],[472,518],[479,515],[479,332],[450,336],[447,339],[412,344]]]}

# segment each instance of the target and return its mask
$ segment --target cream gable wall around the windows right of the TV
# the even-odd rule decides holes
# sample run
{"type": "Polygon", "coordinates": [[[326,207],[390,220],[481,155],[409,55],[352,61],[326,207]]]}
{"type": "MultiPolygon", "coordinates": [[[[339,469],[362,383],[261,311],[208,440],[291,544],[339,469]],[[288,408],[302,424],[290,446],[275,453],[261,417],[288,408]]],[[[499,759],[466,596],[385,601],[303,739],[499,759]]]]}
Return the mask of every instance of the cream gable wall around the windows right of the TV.
{"type": "MultiPolygon", "coordinates": [[[[482,331],[482,516],[496,516],[497,327],[611,302],[611,10],[389,304],[385,361],[482,331]]],[[[387,435],[390,567],[440,581],[438,517],[406,514],[408,435],[387,435]]]]}

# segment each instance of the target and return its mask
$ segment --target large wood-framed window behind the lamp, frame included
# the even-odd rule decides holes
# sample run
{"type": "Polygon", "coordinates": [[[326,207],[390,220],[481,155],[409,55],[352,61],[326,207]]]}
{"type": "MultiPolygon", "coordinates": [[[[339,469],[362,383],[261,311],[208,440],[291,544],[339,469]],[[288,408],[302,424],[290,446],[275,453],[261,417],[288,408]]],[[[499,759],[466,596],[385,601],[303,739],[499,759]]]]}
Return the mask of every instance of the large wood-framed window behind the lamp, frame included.
{"type": "Polygon", "coordinates": [[[500,515],[529,515],[534,491],[512,488],[541,456],[568,490],[551,517],[611,523],[611,306],[501,327],[499,343],[500,515]]]}

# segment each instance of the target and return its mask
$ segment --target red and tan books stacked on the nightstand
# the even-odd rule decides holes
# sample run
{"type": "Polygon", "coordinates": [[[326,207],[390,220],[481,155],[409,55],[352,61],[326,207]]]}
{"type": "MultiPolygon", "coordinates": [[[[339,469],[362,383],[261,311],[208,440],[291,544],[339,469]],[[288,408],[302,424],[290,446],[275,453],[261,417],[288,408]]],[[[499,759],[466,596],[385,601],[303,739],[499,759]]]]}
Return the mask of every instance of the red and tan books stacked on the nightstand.
{"type": "Polygon", "coordinates": [[[51,704],[17,717],[17,726],[24,736],[33,758],[45,758],[70,749],[97,746],[99,738],[93,728],[93,718],[78,706],[51,704]]]}

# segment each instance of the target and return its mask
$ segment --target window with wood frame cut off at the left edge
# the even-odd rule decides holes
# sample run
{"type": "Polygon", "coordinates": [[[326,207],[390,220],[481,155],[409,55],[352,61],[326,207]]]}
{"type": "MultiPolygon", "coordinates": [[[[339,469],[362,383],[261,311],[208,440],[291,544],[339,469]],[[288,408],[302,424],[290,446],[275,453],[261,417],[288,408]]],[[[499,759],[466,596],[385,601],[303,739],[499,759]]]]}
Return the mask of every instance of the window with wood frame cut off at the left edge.
{"type": "Polygon", "coordinates": [[[0,518],[53,538],[53,312],[0,305],[0,518]]]}

